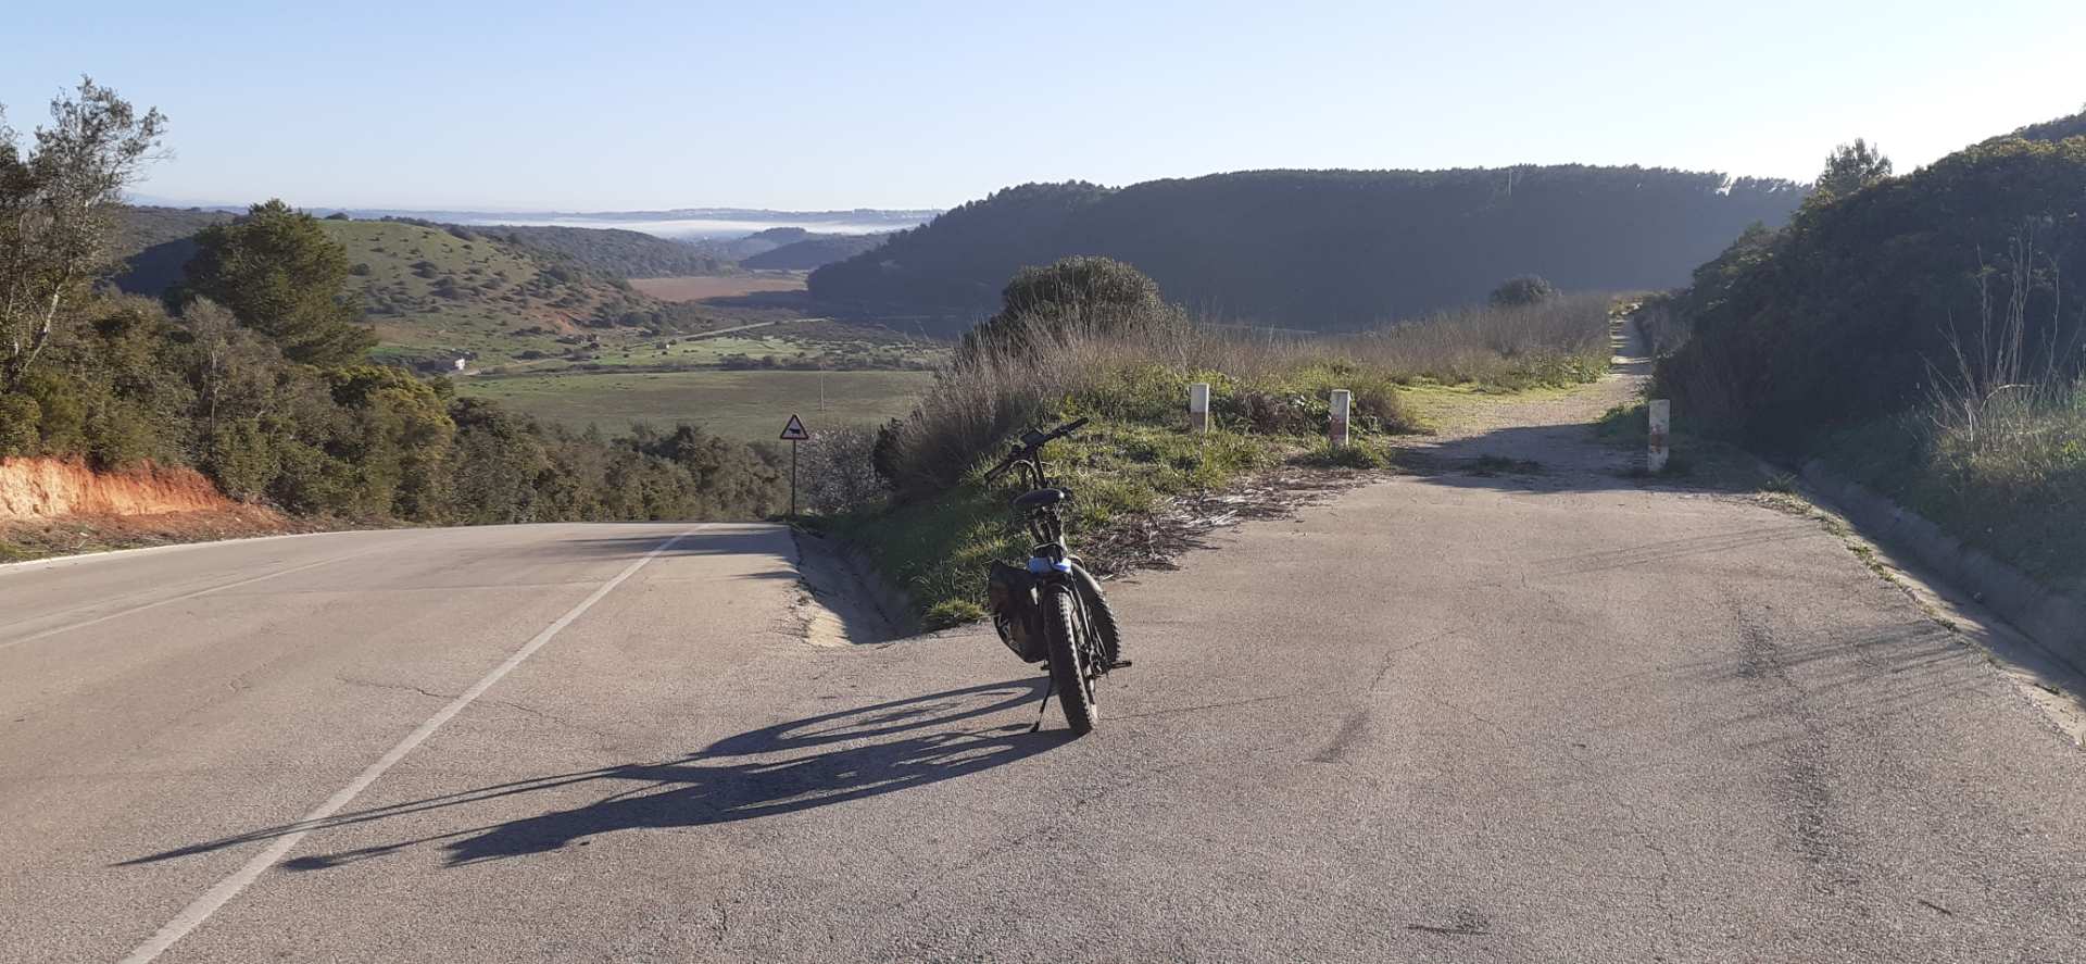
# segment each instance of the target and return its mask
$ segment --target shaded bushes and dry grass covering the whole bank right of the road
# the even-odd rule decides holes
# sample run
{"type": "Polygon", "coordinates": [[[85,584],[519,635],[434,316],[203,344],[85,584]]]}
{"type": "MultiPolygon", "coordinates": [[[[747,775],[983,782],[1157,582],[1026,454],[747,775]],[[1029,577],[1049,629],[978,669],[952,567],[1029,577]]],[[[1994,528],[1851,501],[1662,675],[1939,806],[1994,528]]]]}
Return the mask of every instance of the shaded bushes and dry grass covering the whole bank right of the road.
{"type": "Polygon", "coordinates": [[[1892,177],[1840,148],[1640,315],[1675,421],[1821,457],[1965,543],[2086,586],[2086,115],[1892,177]]]}

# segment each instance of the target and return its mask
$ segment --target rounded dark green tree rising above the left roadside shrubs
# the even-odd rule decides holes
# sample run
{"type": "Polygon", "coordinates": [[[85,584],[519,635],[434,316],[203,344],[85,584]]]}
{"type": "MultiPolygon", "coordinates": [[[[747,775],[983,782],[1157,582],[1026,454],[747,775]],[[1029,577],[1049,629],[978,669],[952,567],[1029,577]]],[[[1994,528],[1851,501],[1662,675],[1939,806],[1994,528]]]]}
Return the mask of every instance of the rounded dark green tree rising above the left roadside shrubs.
{"type": "Polygon", "coordinates": [[[196,234],[188,286],[179,298],[204,296],[273,338],[284,357],[336,367],[363,357],[375,336],[357,323],[361,305],[342,294],[348,252],[319,219],[282,200],[248,209],[234,223],[196,234]]]}

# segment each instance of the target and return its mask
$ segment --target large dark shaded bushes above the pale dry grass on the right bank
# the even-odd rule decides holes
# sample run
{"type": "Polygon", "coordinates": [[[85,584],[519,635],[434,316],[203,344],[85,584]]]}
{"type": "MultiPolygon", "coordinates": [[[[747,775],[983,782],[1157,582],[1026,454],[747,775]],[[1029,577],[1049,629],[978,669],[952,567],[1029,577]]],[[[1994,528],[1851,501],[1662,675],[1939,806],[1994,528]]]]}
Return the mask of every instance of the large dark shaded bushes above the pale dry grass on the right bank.
{"type": "Polygon", "coordinates": [[[2082,198],[2086,138],[2071,138],[1973,146],[1806,204],[1696,271],[1677,298],[1690,336],[1660,359],[1656,390],[1758,449],[1804,451],[1923,405],[1936,369],[2011,298],[1996,280],[2017,265],[2021,344],[2078,365],[2082,198]]]}

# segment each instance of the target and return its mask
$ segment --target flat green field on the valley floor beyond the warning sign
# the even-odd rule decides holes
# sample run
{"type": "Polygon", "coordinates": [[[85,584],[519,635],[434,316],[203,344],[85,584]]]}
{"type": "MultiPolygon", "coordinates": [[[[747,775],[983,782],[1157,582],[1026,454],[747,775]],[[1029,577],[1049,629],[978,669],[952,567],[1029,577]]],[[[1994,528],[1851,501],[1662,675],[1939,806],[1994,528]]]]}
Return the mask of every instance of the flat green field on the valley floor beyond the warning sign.
{"type": "Polygon", "coordinates": [[[617,434],[632,421],[695,421],[726,438],[772,442],[791,413],[803,415],[811,432],[905,415],[932,378],[928,371],[588,371],[467,378],[457,390],[576,430],[601,426],[617,434]]]}

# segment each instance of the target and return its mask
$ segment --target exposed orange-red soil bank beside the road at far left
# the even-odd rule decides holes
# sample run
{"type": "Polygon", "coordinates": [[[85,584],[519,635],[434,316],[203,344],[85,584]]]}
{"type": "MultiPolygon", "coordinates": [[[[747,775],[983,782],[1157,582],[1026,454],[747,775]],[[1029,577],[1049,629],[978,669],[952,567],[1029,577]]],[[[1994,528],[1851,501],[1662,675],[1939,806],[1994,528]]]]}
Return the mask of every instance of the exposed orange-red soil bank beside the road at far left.
{"type": "Polygon", "coordinates": [[[148,463],[94,472],[71,459],[0,459],[0,522],[234,509],[240,505],[196,469],[148,463]]]}

